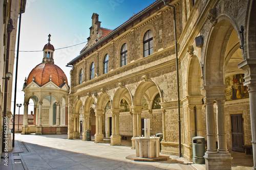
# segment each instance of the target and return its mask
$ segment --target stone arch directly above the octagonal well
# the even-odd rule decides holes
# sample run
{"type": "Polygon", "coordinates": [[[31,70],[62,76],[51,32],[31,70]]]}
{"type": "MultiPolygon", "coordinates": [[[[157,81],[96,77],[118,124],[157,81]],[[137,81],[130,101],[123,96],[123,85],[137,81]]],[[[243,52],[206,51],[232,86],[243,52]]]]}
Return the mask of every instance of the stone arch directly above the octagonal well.
{"type": "Polygon", "coordinates": [[[135,90],[133,105],[141,106],[143,95],[147,93],[148,98],[152,99],[155,97],[156,91],[158,91],[158,93],[160,94],[161,102],[163,102],[161,90],[155,82],[153,82],[152,80],[146,80],[141,82],[135,90]],[[153,94],[155,95],[153,96],[153,94]]]}

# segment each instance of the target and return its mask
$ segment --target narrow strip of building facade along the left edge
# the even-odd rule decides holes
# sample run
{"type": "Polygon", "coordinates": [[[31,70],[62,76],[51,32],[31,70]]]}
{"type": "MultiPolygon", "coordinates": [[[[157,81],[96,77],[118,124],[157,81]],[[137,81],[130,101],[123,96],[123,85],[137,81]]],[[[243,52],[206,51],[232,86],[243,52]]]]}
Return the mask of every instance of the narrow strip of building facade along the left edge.
{"type": "MultiPolygon", "coordinates": [[[[18,15],[20,12],[25,12],[25,4],[23,0],[0,1],[0,154],[6,151],[12,151],[12,134],[10,129],[10,119],[12,117],[11,103],[12,103],[12,81],[13,77],[9,80],[6,78],[6,73],[13,74],[15,50],[16,50],[16,35],[18,15]],[[13,29],[15,28],[15,29],[13,29]],[[9,45],[9,47],[8,47],[9,45]],[[8,60],[7,60],[8,56],[8,60]],[[6,69],[7,68],[7,69],[6,69]],[[6,115],[4,118],[4,115],[6,115]],[[7,120],[8,119],[8,120],[7,120]],[[5,122],[4,122],[5,121],[5,122]],[[3,129],[5,123],[8,122],[7,136],[3,138],[3,129]],[[3,141],[4,140],[4,141],[3,141]],[[2,147],[3,142],[8,144],[2,147]]],[[[5,134],[6,135],[6,134],[5,134]]]]}

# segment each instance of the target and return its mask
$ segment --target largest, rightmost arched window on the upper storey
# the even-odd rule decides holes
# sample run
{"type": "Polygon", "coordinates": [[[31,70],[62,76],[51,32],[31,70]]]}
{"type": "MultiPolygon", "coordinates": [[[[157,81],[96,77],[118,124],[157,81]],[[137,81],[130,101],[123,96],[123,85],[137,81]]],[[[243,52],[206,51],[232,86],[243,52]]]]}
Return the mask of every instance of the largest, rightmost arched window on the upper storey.
{"type": "Polygon", "coordinates": [[[148,30],[144,35],[143,50],[144,50],[144,57],[153,54],[153,33],[151,30],[148,30]]]}

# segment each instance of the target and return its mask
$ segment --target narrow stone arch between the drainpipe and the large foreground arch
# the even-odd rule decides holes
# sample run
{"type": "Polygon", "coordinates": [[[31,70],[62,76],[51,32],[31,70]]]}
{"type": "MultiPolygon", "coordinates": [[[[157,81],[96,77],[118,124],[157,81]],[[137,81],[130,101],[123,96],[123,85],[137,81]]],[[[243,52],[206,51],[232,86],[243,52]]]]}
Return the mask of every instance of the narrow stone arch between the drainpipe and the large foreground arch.
{"type": "Polygon", "coordinates": [[[187,95],[201,95],[202,69],[197,56],[190,58],[187,72],[187,95]]]}

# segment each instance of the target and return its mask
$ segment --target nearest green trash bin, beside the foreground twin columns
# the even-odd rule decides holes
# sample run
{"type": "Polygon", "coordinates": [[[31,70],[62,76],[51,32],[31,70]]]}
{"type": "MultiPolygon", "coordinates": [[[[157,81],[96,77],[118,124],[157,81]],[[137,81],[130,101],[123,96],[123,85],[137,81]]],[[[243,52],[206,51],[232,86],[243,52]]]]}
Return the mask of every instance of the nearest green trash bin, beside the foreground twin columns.
{"type": "Polygon", "coordinates": [[[205,140],[202,136],[195,136],[192,138],[193,141],[193,162],[197,164],[204,164],[204,153],[205,153],[205,140]]]}

